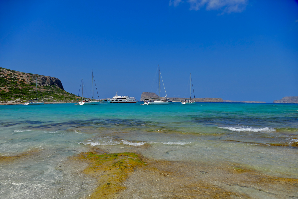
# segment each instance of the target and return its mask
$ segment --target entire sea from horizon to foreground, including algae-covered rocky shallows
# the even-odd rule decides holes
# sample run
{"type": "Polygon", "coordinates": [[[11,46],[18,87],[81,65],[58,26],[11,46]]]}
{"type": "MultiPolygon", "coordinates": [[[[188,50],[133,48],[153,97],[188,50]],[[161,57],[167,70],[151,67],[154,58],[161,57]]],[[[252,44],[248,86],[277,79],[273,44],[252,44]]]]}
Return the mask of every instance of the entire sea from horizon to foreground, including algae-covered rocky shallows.
{"type": "Polygon", "coordinates": [[[297,198],[298,105],[0,107],[1,198],[297,198]]]}

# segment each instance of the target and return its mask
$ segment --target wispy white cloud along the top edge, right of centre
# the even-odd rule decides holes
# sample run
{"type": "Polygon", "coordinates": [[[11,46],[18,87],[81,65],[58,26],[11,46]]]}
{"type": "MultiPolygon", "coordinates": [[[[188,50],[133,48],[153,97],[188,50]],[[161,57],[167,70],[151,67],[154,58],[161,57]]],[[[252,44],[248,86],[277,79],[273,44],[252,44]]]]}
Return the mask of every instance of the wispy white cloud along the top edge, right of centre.
{"type": "MultiPolygon", "coordinates": [[[[222,10],[222,13],[240,13],[245,10],[248,0],[187,0],[190,10],[199,10],[206,6],[206,10],[222,10]]],[[[178,6],[181,0],[170,0],[169,5],[178,6]]]]}

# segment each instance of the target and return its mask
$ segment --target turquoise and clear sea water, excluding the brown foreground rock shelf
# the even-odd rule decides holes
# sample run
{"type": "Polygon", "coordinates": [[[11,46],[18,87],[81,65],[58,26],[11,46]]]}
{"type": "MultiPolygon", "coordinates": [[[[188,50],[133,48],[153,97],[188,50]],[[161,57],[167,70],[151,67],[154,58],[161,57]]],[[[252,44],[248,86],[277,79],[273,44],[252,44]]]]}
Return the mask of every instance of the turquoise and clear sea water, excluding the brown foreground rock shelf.
{"type": "Polygon", "coordinates": [[[291,146],[298,142],[297,104],[3,105],[0,118],[0,155],[38,151],[0,162],[5,198],[86,196],[94,180],[67,159],[91,147],[152,160],[224,161],[298,178],[298,149],[291,146]]]}

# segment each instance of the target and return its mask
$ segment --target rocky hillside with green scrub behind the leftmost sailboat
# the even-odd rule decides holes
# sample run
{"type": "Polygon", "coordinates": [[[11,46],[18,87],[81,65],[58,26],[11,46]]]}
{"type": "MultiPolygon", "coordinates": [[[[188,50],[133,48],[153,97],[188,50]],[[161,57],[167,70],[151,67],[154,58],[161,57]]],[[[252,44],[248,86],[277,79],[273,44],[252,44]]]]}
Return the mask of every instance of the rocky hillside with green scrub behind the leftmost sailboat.
{"type": "Polygon", "coordinates": [[[19,72],[0,67],[0,102],[24,102],[36,98],[45,102],[76,101],[77,96],[66,92],[55,77],[19,72]]]}

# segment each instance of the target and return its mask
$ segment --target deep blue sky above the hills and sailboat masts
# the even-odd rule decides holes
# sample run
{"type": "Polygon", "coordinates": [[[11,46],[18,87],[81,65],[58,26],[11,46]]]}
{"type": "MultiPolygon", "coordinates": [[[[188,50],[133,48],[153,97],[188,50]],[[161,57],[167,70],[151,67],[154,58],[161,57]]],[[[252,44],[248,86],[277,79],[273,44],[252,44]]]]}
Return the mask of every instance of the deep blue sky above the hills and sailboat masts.
{"type": "Polygon", "coordinates": [[[298,96],[298,3],[0,1],[1,67],[57,77],[74,94],[93,70],[100,98],[139,100],[155,92],[158,64],[168,97],[184,97],[190,73],[196,97],[298,96]]]}

